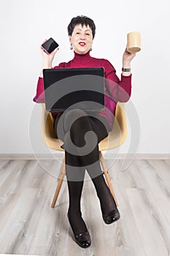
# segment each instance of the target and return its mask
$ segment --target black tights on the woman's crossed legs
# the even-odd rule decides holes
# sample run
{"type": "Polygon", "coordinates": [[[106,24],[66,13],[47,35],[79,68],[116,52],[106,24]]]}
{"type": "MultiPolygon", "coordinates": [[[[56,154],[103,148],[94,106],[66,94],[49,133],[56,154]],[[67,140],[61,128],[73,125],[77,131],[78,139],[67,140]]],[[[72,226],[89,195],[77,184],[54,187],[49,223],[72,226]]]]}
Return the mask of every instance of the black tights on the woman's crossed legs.
{"type": "Polygon", "coordinates": [[[85,170],[96,188],[102,214],[116,208],[101,170],[98,152],[98,143],[108,135],[107,122],[101,116],[91,115],[79,109],[69,110],[57,117],[54,123],[55,137],[63,140],[65,149],[68,217],[76,234],[87,231],[80,208],[85,170]]]}

